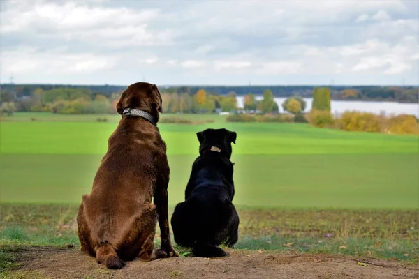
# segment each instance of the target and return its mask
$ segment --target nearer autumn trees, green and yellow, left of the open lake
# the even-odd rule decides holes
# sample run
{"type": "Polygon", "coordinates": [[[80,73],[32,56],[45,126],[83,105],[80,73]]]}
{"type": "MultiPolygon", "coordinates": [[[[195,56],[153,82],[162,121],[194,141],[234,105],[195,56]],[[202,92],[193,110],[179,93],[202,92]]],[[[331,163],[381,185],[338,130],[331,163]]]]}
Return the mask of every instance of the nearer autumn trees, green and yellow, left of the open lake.
{"type": "MultiPolygon", "coordinates": [[[[3,114],[13,112],[52,112],[56,114],[112,114],[116,113],[115,106],[120,93],[105,96],[84,88],[59,87],[50,90],[37,88],[30,96],[17,96],[7,89],[0,90],[0,107],[3,114]]],[[[244,96],[244,108],[237,107],[237,95],[230,91],[226,95],[209,93],[204,89],[191,93],[189,90],[164,90],[161,93],[163,109],[169,113],[250,113],[250,114],[278,114],[279,107],[274,101],[274,94],[269,89],[263,92],[263,99],[256,100],[252,93],[244,96]]],[[[304,102],[301,97],[293,97],[304,102]]],[[[294,99],[293,99],[294,100],[294,99]]],[[[299,113],[304,110],[302,105],[284,106],[284,110],[299,113]]]]}

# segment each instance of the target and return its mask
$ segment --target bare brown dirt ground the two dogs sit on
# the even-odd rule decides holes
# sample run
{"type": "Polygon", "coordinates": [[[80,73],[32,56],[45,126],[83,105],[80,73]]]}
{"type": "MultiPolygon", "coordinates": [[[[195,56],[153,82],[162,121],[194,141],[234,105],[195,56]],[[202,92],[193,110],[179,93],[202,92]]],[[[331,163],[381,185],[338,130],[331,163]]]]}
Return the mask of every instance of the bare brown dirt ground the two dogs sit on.
{"type": "Polygon", "coordinates": [[[77,248],[35,247],[13,253],[19,256],[20,268],[10,271],[10,278],[14,273],[16,278],[419,278],[418,265],[339,255],[230,251],[230,257],[216,259],[135,260],[111,271],[77,248]]]}

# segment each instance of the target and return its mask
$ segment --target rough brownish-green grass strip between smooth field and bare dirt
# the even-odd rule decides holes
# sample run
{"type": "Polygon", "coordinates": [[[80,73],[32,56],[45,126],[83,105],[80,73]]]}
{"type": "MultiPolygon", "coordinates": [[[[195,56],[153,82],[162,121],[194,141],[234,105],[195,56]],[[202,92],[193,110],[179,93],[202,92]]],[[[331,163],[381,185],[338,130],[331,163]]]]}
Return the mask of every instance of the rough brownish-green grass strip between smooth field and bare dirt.
{"type": "MultiPolygon", "coordinates": [[[[78,206],[1,206],[0,247],[79,246],[75,227],[78,206]]],[[[239,207],[238,212],[240,239],[236,249],[326,252],[410,262],[419,260],[419,220],[415,210],[239,207]]],[[[159,245],[158,238],[156,245],[159,245]]],[[[177,249],[183,256],[189,255],[189,249],[177,249]]],[[[13,259],[10,264],[13,264],[13,259]]]]}

